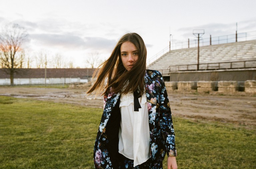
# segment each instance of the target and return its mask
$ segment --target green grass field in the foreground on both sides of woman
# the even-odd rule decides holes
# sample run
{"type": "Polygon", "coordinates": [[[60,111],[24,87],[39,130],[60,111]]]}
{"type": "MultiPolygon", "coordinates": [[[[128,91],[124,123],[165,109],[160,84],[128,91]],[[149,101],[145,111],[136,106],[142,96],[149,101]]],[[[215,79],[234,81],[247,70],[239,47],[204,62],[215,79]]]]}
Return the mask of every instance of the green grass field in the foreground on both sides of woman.
{"type": "MultiPolygon", "coordinates": [[[[0,168],[94,168],[101,114],[101,109],[0,96],[0,168]]],[[[179,169],[256,168],[255,128],[173,120],[179,169]]]]}

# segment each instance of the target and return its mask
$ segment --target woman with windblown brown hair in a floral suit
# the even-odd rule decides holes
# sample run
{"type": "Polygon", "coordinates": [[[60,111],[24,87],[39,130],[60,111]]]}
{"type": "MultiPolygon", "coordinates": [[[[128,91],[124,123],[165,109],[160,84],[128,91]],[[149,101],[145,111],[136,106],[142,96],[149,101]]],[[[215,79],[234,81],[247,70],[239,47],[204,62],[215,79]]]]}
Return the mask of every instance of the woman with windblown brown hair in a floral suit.
{"type": "Polygon", "coordinates": [[[95,168],[160,169],[166,152],[168,169],[177,168],[165,84],[159,71],[146,70],[146,56],[142,38],[125,34],[87,92],[104,94],[94,145],[95,168]]]}

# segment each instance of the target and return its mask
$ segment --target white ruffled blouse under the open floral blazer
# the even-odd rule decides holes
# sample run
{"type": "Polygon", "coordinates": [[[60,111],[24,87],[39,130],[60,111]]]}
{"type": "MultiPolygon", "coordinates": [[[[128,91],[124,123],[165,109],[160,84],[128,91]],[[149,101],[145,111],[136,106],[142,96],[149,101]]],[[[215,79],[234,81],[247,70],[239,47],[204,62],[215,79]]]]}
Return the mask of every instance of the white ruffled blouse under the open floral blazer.
{"type": "Polygon", "coordinates": [[[150,158],[150,134],[148,106],[145,94],[139,98],[141,108],[134,111],[133,93],[122,94],[120,99],[121,127],[119,129],[119,153],[134,160],[136,165],[150,158]]]}

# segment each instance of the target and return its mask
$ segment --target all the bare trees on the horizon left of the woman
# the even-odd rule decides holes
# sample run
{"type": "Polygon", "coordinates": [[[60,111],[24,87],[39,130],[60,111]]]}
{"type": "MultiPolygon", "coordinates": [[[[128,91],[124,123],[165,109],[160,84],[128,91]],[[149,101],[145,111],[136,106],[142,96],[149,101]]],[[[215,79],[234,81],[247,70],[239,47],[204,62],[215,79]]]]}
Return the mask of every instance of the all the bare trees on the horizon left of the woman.
{"type": "MultiPolygon", "coordinates": [[[[14,73],[20,68],[74,68],[72,61],[66,61],[63,56],[56,53],[52,56],[46,50],[37,54],[26,54],[23,48],[28,41],[27,30],[18,24],[8,24],[0,30],[0,68],[3,68],[10,75],[11,85],[13,85],[14,73]],[[51,56],[51,57],[50,57],[51,56]],[[50,59],[51,58],[51,59],[50,59]]],[[[84,60],[90,68],[98,67],[102,62],[98,52],[91,53],[91,56],[84,60]]]]}

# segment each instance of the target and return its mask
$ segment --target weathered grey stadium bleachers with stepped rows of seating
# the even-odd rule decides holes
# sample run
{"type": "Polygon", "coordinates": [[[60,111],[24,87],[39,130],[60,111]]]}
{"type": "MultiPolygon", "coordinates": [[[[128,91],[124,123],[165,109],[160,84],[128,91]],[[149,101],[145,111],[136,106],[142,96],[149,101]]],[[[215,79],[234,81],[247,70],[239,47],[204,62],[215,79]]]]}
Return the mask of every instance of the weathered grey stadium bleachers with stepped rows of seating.
{"type": "MultiPolygon", "coordinates": [[[[200,46],[199,51],[199,63],[202,64],[200,65],[200,69],[206,69],[206,65],[203,65],[203,63],[216,63],[216,65],[210,65],[212,66],[211,68],[214,69],[214,67],[219,66],[218,63],[220,62],[234,62],[232,68],[239,68],[242,66],[241,64],[243,64],[243,66],[246,64],[245,67],[256,67],[256,61],[242,62],[256,60],[256,40],[200,46]]],[[[189,64],[195,64],[194,67],[196,68],[197,47],[170,50],[148,65],[147,68],[175,71],[171,70],[170,66],[189,64]]],[[[222,63],[221,68],[230,68],[230,64],[222,63]]],[[[167,73],[167,71],[164,72],[167,73]]]]}

